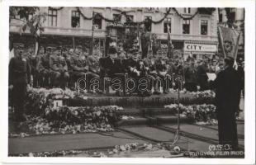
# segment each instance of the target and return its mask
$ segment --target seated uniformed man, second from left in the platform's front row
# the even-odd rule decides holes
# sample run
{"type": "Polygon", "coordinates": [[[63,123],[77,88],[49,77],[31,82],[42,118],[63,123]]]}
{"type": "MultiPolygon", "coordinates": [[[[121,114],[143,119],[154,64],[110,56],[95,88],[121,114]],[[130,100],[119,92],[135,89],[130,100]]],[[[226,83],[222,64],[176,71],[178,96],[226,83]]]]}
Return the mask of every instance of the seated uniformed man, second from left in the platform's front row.
{"type": "Polygon", "coordinates": [[[64,88],[69,81],[68,66],[59,47],[55,50],[55,54],[50,55],[50,76],[55,87],[64,88]]]}

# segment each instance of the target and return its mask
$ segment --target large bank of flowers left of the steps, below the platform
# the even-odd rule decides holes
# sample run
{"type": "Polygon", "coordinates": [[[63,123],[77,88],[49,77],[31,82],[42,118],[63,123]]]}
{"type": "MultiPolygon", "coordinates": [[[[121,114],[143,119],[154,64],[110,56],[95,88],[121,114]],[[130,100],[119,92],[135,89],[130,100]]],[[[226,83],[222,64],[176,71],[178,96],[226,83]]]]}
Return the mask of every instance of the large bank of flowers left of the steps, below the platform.
{"type": "Polygon", "coordinates": [[[26,137],[29,134],[77,134],[85,132],[112,131],[121,116],[120,106],[84,106],[84,107],[50,107],[45,108],[40,116],[29,115],[21,125],[27,125],[28,134],[9,134],[11,137],[26,137]]]}

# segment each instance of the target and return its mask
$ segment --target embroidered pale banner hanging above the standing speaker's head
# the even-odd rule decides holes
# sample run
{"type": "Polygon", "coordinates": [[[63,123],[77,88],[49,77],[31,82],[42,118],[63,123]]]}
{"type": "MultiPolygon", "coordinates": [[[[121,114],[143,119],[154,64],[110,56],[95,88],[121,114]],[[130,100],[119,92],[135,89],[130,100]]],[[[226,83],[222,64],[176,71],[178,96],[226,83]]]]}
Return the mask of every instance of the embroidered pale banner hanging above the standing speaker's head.
{"type": "Polygon", "coordinates": [[[226,57],[236,59],[240,32],[228,27],[218,26],[221,49],[226,57]]]}

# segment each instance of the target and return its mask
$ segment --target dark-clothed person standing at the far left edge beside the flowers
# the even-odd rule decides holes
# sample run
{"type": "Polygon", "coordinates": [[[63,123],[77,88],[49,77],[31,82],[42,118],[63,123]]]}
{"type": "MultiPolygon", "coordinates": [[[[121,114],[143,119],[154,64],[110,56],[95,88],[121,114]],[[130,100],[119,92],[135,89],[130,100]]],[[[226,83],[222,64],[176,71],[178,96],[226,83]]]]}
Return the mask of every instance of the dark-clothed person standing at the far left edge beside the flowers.
{"type": "Polygon", "coordinates": [[[31,82],[31,70],[28,61],[24,57],[23,48],[22,45],[15,48],[15,56],[12,57],[9,64],[9,88],[12,91],[14,118],[17,121],[26,120],[24,99],[26,97],[26,87],[31,82]]]}

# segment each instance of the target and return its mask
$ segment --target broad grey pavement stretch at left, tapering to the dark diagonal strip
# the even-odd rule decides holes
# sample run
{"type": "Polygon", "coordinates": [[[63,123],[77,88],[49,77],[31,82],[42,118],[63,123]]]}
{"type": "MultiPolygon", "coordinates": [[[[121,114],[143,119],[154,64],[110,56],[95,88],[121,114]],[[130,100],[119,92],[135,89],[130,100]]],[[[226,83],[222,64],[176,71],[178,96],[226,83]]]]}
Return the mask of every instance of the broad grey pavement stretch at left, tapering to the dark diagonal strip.
{"type": "Polygon", "coordinates": [[[9,138],[9,154],[44,152],[69,149],[97,149],[111,148],[119,144],[147,143],[145,140],[136,139],[129,134],[121,132],[86,134],[55,134],[31,136],[26,138],[9,138]],[[116,136],[116,137],[113,137],[116,136]]]}

